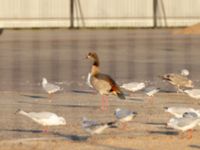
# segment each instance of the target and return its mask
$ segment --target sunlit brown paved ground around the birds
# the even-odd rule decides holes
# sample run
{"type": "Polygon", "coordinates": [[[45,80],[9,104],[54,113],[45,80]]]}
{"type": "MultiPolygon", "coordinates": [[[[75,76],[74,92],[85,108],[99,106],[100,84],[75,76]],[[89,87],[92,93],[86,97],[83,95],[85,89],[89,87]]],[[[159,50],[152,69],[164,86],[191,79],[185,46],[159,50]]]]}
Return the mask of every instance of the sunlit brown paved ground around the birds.
{"type": "MultiPolygon", "coordinates": [[[[179,139],[177,132],[166,129],[170,118],[164,106],[200,108],[197,100],[184,94],[166,93],[174,89],[157,76],[167,72],[190,70],[190,78],[199,87],[198,35],[173,35],[171,30],[5,30],[0,36],[0,149],[200,149],[199,130],[192,140],[179,139]],[[109,97],[109,111],[99,113],[100,96],[85,84],[90,62],[89,51],[96,51],[101,70],[121,84],[144,81],[161,87],[162,92],[149,101],[142,92],[128,101],[109,97]],[[46,77],[64,88],[48,102],[41,88],[46,77]],[[107,130],[88,138],[81,129],[81,118],[99,121],[115,119],[116,107],[138,112],[138,117],[123,131],[107,130]],[[41,126],[20,115],[26,111],[51,111],[67,120],[65,127],[41,126]],[[24,139],[26,138],[26,140],[24,139]]],[[[126,92],[127,93],[127,92],[126,92]]],[[[128,94],[128,93],[127,93],[128,94]]]]}

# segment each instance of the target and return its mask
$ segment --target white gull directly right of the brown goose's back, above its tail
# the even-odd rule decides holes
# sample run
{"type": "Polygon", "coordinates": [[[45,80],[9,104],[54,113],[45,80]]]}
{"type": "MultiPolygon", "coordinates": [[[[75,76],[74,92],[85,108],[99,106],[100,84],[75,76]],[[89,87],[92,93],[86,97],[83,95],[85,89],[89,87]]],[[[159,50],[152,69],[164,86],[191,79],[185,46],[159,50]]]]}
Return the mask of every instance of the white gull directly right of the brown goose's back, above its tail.
{"type": "Polygon", "coordinates": [[[123,84],[121,87],[128,91],[136,92],[145,88],[145,84],[143,82],[131,82],[123,84]]]}

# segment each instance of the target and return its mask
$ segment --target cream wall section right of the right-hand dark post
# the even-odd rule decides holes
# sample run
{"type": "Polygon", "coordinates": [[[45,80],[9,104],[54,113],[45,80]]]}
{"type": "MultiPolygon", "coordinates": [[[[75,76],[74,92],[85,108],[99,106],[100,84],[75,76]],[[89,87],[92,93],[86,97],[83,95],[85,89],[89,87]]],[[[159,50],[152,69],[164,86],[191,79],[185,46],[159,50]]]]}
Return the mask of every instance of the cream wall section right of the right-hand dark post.
{"type": "Polygon", "coordinates": [[[158,26],[188,26],[200,22],[200,0],[158,1],[158,26]]]}

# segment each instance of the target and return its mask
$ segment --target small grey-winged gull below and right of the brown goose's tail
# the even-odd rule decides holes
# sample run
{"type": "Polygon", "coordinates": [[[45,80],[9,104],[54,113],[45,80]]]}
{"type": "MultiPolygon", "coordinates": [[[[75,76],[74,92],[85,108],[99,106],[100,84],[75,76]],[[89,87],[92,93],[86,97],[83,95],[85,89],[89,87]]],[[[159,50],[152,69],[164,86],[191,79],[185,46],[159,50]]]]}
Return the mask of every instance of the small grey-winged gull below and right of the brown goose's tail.
{"type": "Polygon", "coordinates": [[[121,108],[117,108],[114,114],[119,122],[129,122],[137,115],[136,112],[121,108]]]}

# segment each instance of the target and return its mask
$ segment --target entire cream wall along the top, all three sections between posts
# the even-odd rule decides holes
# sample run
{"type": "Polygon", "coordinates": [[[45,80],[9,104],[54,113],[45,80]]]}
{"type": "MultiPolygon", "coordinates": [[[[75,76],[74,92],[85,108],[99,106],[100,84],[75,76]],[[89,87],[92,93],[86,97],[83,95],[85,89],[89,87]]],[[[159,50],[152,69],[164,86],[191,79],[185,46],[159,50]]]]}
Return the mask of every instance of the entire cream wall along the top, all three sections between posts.
{"type": "MultiPolygon", "coordinates": [[[[158,26],[200,22],[200,0],[158,0],[158,26]]],[[[0,27],[69,27],[70,0],[0,0],[0,27]]],[[[76,27],[152,27],[153,0],[75,0],[76,27]]]]}

